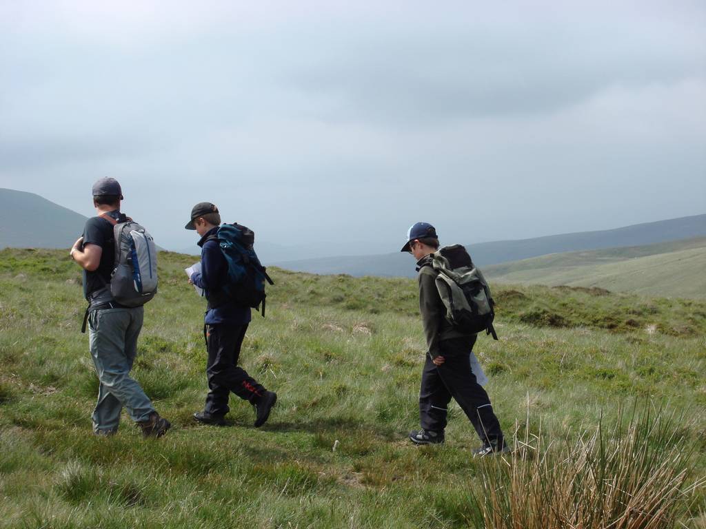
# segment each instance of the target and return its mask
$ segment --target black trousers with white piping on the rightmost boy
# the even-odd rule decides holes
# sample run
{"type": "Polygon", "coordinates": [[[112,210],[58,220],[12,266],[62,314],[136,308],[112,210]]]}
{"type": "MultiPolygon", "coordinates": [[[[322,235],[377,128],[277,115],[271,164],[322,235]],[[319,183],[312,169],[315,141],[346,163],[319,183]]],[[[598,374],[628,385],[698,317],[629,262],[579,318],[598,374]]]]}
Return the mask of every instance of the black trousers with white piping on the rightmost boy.
{"type": "Polygon", "coordinates": [[[475,336],[442,341],[441,354],[445,362],[439,366],[434,365],[429,355],[426,356],[419,391],[421,427],[443,432],[448,403],[453,397],[471,421],[481,442],[502,442],[503,432],[489,396],[471,372],[470,353],[475,341],[475,336]]]}

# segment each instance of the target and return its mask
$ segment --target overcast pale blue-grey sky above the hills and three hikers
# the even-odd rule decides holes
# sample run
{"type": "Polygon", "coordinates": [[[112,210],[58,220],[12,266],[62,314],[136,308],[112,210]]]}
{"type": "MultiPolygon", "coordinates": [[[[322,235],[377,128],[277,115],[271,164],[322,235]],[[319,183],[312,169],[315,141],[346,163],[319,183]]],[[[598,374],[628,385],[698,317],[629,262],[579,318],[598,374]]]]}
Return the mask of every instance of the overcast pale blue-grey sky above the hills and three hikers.
{"type": "Polygon", "coordinates": [[[167,248],[210,200],[323,255],[706,213],[704,28],[680,0],[0,0],[0,187],[90,215],[113,176],[167,248]]]}

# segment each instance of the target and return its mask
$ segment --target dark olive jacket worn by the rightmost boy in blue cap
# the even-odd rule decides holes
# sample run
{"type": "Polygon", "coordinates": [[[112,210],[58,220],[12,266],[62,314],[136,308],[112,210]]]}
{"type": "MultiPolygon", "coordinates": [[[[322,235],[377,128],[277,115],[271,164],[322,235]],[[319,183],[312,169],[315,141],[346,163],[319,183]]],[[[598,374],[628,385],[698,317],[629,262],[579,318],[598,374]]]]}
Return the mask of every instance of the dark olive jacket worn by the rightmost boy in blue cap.
{"type": "Polygon", "coordinates": [[[444,340],[474,335],[457,331],[446,320],[446,308],[436,288],[436,272],[431,267],[431,255],[426,255],[417,261],[417,269],[419,270],[417,281],[419,281],[421,324],[424,327],[429,356],[436,358],[438,355],[443,355],[442,342],[444,340]]]}

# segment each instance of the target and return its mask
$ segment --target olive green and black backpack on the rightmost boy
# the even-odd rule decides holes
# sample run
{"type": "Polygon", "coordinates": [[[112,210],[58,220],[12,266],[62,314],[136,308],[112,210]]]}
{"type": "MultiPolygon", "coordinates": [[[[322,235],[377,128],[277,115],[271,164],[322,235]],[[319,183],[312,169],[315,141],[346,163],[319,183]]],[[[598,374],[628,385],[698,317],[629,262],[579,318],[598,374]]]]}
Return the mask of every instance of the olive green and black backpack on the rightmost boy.
{"type": "MultiPolygon", "coordinates": [[[[429,268],[424,267],[422,272],[429,268]]],[[[436,276],[436,288],[446,308],[446,320],[462,332],[485,331],[497,340],[493,296],[466,249],[456,244],[437,250],[431,254],[431,268],[433,272],[429,272],[436,276]]]]}

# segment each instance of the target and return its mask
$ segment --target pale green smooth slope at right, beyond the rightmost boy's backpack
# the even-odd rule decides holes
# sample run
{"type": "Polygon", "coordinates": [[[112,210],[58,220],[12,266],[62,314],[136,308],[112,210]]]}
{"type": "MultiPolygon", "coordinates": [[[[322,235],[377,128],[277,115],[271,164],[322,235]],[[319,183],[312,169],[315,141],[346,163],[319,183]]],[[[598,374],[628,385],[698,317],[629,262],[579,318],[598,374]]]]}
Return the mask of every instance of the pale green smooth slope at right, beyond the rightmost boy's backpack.
{"type": "Polygon", "coordinates": [[[652,296],[706,298],[706,238],[544,255],[488,267],[505,283],[599,286],[652,296]]]}

